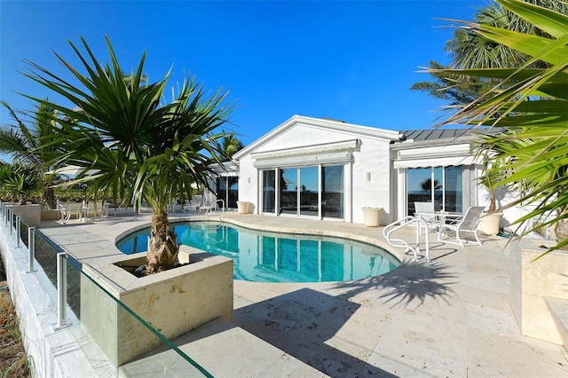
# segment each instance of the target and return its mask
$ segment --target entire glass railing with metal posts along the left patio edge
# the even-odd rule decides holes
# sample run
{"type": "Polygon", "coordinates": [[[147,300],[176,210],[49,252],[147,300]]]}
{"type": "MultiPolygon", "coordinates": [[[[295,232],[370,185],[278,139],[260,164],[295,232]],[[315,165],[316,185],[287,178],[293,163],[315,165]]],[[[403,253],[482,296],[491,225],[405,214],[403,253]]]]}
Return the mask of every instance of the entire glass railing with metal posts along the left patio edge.
{"type": "Polygon", "coordinates": [[[172,343],[105,287],[101,287],[83,270],[80,261],[68,255],[41,230],[32,229],[29,236],[28,224],[20,218],[17,220],[4,203],[1,205],[0,220],[2,225],[9,226],[3,228],[4,234],[12,233],[7,237],[14,240],[20,237],[16,241],[21,243],[22,248],[28,248],[31,241],[35,256],[32,263],[41,265],[53,286],[58,288],[62,303],[59,327],[66,327],[73,333],[100,377],[140,374],[212,376],[185,354],[183,345],[172,343]],[[141,345],[146,350],[142,353],[141,345]]]}

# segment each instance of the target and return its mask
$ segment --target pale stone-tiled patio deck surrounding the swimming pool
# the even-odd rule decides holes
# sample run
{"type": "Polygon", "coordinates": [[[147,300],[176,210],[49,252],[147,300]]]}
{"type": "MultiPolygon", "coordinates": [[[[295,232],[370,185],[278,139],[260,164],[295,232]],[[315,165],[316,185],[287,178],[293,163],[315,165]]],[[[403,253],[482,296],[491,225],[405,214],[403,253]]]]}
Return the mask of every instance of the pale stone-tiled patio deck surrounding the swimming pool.
{"type": "MultiPolygon", "coordinates": [[[[178,213],[170,219],[202,217],[178,213]]],[[[225,217],[251,228],[351,234],[386,246],[382,228],[363,224],[237,213],[225,217]]],[[[117,235],[149,221],[143,215],[84,224],[45,222],[42,231],[88,264],[115,253],[109,242],[114,244],[117,235]]],[[[414,233],[408,231],[405,238],[413,240],[414,233]]],[[[214,376],[568,376],[562,346],[519,332],[509,305],[508,240],[481,240],[481,247],[461,248],[432,238],[430,263],[414,263],[412,256],[387,247],[404,257],[403,264],[366,280],[235,280],[233,325],[214,321],[176,343],[214,376]]],[[[146,358],[124,366],[122,374],[151,376],[159,372],[158,365],[146,358]]]]}

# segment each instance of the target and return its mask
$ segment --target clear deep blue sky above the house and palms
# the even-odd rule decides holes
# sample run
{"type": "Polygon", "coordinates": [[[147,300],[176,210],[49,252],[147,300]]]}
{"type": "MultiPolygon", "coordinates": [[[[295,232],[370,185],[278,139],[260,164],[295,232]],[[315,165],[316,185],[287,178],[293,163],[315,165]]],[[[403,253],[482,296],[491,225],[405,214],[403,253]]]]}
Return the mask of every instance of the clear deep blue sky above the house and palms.
{"type": "MultiPolygon", "coordinates": [[[[31,108],[24,92],[55,98],[21,75],[24,59],[77,63],[67,39],[108,61],[104,35],[122,69],[146,51],[150,81],[173,65],[170,85],[191,73],[223,87],[239,107],[233,129],[248,145],[294,114],[389,130],[427,129],[443,103],[408,88],[428,80],[419,67],[448,62],[453,29],[435,18],[472,20],[488,0],[377,1],[6,1],[0,0],[0,98],[31,108]]],[[[68,104],[67,104],[68,105],[68,104]]],[[[0,110],[0,123],[11,120],[0,110]]]]}

